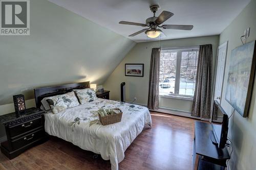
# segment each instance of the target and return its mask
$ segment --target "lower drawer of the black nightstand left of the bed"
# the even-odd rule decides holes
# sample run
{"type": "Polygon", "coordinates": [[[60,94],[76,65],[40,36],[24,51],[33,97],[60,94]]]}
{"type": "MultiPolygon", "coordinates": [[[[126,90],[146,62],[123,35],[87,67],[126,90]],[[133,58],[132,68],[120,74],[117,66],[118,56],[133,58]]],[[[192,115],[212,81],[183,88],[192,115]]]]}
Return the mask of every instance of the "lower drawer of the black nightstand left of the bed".
{"type": "Polygon", "coordinates": [[[16,150],[16,149],[25,147],[26,145],[28,145],[38,139],[41,139],[42,137],[44,137],[44,135],[45,135],[44,129],[39,129],[37,131],[31,132],[28,135],[25,135],[18,139],[12,140],[11,141],[12,149],[16,150]]]}

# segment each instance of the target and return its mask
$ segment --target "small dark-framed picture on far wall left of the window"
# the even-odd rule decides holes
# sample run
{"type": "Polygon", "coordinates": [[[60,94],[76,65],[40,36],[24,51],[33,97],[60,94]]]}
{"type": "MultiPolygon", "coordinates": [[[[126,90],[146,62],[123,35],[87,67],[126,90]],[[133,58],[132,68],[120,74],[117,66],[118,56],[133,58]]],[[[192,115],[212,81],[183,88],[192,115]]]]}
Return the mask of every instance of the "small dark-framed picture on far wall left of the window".
{"type": "Polygon", "coordinates": [[[144,64],[125,64],[125,76],[144,76],[144,64]]]}

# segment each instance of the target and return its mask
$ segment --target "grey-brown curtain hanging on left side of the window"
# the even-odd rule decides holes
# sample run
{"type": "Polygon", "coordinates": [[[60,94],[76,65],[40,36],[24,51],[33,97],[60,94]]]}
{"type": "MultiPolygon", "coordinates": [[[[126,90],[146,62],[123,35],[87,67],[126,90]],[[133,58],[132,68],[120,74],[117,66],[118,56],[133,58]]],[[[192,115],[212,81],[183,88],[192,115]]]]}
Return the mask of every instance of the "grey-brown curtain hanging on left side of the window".
{"type": "Polygon", "coordinates": [[[159,108],[160,48],[152,48],[150,62],[150,84],[148,87],[148,109],[159,108]]]}

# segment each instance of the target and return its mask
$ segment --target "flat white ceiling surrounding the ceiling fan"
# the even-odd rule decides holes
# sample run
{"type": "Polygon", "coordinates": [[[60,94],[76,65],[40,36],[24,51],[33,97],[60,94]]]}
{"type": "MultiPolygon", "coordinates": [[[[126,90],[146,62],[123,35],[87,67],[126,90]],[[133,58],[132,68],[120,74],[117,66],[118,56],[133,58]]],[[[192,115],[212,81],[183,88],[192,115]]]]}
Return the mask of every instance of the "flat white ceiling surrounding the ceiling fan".
{"type": "Polygon", "coordinates": [[[161,39],[175,39],[220,34],[250,2],[250,0],[49,1],[136,42],[146,41],[146,35],[144,33],[135,37],[128,37],[128,35],[142,30],[144,27],[120,25],[118,22],[125,20],[145,23],[146,18],[153,16],[149,9],[151,5],[158,4],[160,6],[156,16],[163,10],[174,13],[174,16],[164,24],[194,25],[194,29],[191,31],[162,29],[167,37],[162,35],[161,39]]]}

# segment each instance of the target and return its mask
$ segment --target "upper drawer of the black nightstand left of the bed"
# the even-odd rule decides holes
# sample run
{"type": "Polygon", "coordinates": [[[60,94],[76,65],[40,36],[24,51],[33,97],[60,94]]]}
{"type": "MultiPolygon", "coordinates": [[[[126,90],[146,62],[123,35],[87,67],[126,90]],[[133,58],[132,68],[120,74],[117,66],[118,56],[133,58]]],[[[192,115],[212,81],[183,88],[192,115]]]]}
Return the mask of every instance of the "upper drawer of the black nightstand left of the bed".
{"type": "Polygon", "coordinates": [[[28,131],[31,131],[35,128],[42,126],[42,119],[41,117],[29,120],[28,122],[24,122],[22,124],[18,124],[15,126],[7,127],[7,131],[9,131],[10,137],[14,137],[17,135],[21,135],[28,131]]]}

